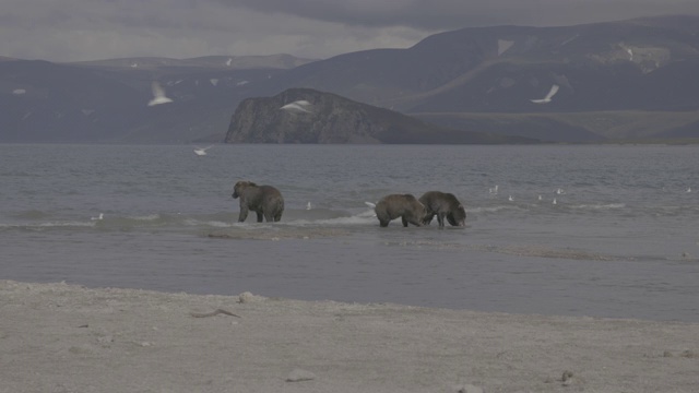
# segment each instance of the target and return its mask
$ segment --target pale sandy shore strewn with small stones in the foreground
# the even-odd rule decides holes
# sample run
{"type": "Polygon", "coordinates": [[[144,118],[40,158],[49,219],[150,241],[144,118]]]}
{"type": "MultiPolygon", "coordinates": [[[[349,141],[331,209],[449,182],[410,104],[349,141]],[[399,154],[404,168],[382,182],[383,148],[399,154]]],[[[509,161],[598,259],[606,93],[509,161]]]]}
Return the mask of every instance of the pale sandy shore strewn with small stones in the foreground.
{"type": "Polygon", "coordinates": [[[699,389],[697,323],[9,281],[0,354],[3,393],[699,389]]]}

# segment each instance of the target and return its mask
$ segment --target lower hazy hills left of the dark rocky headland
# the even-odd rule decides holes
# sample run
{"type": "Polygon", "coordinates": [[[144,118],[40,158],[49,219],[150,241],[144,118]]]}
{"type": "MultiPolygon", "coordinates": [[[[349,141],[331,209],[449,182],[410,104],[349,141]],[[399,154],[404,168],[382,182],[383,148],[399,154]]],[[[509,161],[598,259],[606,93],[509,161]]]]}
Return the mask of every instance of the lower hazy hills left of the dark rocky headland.
{"type": "Polygon", "coordinates": [[[285,61],[292,62],[288,67],[306,61],[233,58],[228,67],[227,59],[1,61],[0,142],[222,141],[230,115],[252,94],[251,86],[284,72],[285,61]],[[173,103],[147,106],[153,81],[173,103]]]}

